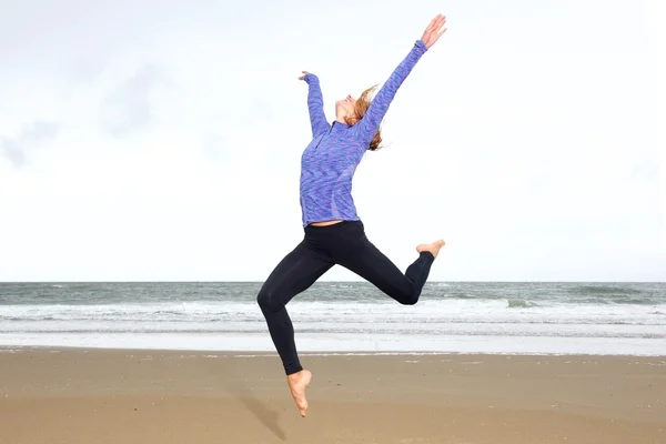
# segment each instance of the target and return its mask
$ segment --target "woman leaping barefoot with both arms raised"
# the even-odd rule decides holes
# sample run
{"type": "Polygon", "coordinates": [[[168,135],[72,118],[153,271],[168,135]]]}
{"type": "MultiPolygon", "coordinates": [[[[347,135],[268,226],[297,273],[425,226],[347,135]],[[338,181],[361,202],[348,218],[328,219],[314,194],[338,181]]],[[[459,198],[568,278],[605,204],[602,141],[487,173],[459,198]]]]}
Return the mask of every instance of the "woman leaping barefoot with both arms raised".
{"type": "Polygon", "coordinates": [[[285,305],[309,289],[333,265],[340,264],[373,283],[401,304],[415,304],[444,241],[416,246],[418,258],[403,274],[365,236],[352,199],[354,171],[366,150],[379,148],[380,124],[397,89],[418,59],[446,31],[446,18],[435,17],[403,62],[377,92],[347,97],[335,103],[335,121],[324,115],[316,75],[303,71],[309,84],[307,108],[313,140],[301,160],[301,209],[304,239],[278,264],[258,295],[273,344],[286,372],[286,381],[301,416],[305,416],[305,387],[312,374],[303,370],[296,353],[294,329],[285,305]]]}

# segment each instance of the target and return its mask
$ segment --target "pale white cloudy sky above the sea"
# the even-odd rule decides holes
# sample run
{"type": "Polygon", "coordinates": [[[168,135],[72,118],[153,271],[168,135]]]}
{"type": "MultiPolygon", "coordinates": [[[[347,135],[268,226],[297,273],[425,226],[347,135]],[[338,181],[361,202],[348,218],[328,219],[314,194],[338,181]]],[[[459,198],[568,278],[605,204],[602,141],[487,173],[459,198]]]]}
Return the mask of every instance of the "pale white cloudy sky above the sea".
{"type": "Polygon", "coordinates": [[[664,2],[194,3],[0,0],[0,281],[263,281],[302,239],[296,77],[332,120],[438,12],[356,172],[371,241],[445,239],[433,281],[666,281],[664,2]]]}

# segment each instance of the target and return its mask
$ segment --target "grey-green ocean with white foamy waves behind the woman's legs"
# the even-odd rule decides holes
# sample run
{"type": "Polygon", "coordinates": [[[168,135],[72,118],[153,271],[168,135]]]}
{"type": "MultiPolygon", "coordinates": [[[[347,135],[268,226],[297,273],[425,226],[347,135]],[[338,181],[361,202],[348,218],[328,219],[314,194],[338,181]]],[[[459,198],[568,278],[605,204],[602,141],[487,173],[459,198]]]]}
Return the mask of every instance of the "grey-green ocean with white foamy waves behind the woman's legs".
{"type": "MultiPolygon", "coordinates": [[[[260,282],[0,283],[0,346],[274,352],[260,282]]],[[[366,282],[287,305],[301,352],[666,355],[666,283],[366,282]]]]}

